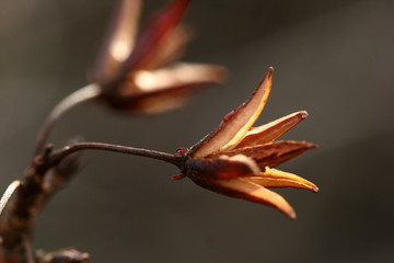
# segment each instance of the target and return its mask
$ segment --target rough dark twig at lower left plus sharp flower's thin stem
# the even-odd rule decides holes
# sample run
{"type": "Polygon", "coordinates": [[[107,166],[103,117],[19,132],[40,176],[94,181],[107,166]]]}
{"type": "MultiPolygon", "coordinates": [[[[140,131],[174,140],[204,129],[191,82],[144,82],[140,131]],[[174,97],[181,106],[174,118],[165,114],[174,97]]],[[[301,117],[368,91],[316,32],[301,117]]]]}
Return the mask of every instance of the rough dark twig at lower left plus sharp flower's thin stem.
{"type": "MultiPolygon", "coordinates": [[[[48,198],[59,190],[56,185],[59,182],[51,182],[55,185],[49,185],[50,187],[48,187],[45,183],[46,180],[50,176],[50,172],[56,172],[56,168],[61,165],[62,161],[66,161],[67,158],[72,158],[72,155],[89,149],[152,158],[172,163],[181,170],[183,170],[185,162],[184,157],[181,155],[111,144],[76,142],[57,151],[53,151],[53,146],[46,146],[43,150],[43,156],[37,156],[32,167],[26,171],[24,181],[21,184],[16,182],[11,184],[2,198],[4,205],[8,203],[5,206],[8,216],[0,217],[0,236],[3,241],[0,247],[0,262],[7,259],[8,262],[20,263],[30,259],[31,252],[26,248],[31,245],[30,242],[33,237],[36,215],[43,208],[43,205],[47,203],[48,198]],[[12,202],[7,202],[14,191],[16,194],[11,199],[12,202]]],[[[69,169],[65,171],[72,173],[72,168],[70,171],[69,169]]],[[[63,175],[57,176],[55,180],[69,179],[69,175],[63,175]]],[[[63,185],[63,182],[60,182],[59,185],[63,185]]]]}

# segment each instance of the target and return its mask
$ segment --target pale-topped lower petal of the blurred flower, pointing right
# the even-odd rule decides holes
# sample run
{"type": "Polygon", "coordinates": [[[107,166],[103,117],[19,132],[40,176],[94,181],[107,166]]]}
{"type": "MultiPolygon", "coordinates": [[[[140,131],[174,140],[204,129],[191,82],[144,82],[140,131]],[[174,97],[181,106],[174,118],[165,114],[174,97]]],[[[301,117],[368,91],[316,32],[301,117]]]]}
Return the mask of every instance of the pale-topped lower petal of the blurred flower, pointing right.
{"type": "Polygon", "coordinates": [[[140,70],[121,85],[121,100],[114,106],[146,114],[162,113],[182,106],[192,93],[206,84],[224,81],[225,75],[223,67],[202,64],[140,70]]]}

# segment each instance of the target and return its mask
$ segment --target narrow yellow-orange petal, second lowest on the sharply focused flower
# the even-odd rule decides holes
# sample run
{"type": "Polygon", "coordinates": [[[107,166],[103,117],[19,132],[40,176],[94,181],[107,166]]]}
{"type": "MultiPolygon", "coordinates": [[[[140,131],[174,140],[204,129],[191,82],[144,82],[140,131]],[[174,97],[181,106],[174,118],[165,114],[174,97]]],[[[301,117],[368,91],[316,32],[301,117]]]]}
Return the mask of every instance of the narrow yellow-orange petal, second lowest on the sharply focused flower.
{"type": "Polygon", "coordinates": [[[293,187],[305,188],[318,192],[318,187],[312,182],[304,180],[296,174],[267,168],[264,172],[248,178],[251,182],[264,187],[293,187]]]}

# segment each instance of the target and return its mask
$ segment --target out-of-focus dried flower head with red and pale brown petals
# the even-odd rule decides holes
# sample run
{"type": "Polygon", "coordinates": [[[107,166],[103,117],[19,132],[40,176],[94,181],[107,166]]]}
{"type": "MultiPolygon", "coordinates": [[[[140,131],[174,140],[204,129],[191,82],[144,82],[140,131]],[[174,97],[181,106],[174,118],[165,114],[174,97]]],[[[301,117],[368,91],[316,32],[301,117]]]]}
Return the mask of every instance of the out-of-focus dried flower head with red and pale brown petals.
{"type": "Polygon", "coordinates": [[[183,105],[197,88],[224,80],[219,66],[177,62],[163,68],[182,55],[189,39],[178,24],[188,4],[171,2],[136,38],[141,1],[119,1],[93,70],[93,82],[112,107],[160,113],[183,105]]]}

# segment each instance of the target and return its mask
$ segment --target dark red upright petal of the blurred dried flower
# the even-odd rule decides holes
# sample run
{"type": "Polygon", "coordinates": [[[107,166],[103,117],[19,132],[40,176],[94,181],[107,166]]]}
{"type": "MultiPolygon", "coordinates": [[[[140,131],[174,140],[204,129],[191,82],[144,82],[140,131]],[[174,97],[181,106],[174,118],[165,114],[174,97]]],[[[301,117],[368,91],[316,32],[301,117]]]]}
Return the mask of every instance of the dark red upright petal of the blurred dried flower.
{"type": "Polygon", "coordinates": [[[138,37],[135,50],[125,62],[124,71],[144,69],[154,59],[161,42],[172,32],[183,18],[189,0],[174,0],[162,9],[138,37]]]}

